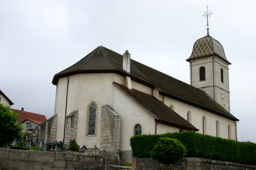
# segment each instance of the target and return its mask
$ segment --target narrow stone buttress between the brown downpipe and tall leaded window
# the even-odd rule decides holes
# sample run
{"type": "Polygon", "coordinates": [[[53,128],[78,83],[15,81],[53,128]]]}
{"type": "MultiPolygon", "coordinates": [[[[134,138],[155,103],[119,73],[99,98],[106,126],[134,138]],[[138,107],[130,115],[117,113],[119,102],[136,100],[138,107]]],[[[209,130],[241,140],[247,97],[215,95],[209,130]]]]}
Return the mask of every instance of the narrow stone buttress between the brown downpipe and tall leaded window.
{"type": "Polygon", "coordinates": [[[77,119],[78,119],[78,110],[72,111],[66,117],[66,135],[65,135],[65,145],[69,146],[69,141],[76,140],[77,137],[77,119]]]}

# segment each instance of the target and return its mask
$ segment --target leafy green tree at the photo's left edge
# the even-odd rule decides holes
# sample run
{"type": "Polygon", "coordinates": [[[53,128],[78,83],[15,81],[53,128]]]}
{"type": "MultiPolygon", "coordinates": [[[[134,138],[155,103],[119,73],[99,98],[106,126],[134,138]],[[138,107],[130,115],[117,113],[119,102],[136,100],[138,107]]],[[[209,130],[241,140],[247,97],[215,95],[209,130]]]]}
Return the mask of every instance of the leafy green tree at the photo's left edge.
{"type": "Polygon", "coordinates": [[[17,122],[18,114],[10,106],[0,104],[0,147],[22,137],[23,126],[17,122]]]}

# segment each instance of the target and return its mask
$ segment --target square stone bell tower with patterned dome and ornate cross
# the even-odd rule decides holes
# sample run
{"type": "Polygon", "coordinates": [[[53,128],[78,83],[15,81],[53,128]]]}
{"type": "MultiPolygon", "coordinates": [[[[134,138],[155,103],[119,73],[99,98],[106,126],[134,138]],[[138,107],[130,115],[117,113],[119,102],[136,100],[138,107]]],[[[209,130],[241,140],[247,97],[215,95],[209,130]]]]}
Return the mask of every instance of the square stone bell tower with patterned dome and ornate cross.
{"type": "Polygon", "coordinates": [[[207,35],[198,39],[188,61],[190,63],[190,84],[203,90],[215,102],[230,112],[229,73],[222,45],[209,36],[207,12],[207,35]]]}

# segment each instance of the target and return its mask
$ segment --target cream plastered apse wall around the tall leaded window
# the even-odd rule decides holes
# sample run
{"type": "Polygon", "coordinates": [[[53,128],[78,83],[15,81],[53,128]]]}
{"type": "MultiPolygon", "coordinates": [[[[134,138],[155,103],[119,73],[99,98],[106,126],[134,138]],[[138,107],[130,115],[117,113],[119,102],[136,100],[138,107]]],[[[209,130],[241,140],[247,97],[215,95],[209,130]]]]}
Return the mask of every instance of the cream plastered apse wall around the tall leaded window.
{"type": "MultiPolygon", "coordinates": [[[[115,73],[86,73],[68,76],[68,99],[66,115],[78,110],[78,145],[93,148],[100,147],[101,106],[113,106],[113,81],[122,82],[122,76],[115,73]],[[96,135],[87,135],[88,107],[94,103],[96,109],[96,135]]],[[[57,139],[63,141],[67,77],[60,78],[56,89],[55,113],[58,113],[57,139]]]]}

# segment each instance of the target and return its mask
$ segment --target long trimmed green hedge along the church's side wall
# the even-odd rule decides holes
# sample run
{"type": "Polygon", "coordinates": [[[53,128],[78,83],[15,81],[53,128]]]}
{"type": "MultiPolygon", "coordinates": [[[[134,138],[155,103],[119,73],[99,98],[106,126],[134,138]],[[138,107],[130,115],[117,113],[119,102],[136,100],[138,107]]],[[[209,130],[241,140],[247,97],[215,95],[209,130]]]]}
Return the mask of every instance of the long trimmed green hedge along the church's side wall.
{"type": "Polygon", "coordinates": [[[203,135],[194,131],[133,136],[130,139],[132,155],[139,158],[149,158],[150,151],[161,137],[169,137],[181,141],[187,149],[186,157],[256,165],[255,143],[238,142],[203,135]]]}

